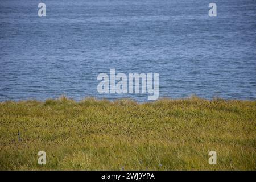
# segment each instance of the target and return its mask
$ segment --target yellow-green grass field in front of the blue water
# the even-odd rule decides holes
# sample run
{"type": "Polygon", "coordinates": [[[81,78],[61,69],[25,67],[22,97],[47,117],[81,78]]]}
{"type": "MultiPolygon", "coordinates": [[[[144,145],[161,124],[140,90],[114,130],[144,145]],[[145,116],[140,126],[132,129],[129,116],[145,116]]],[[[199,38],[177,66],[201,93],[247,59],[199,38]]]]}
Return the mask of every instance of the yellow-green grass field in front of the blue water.
{"type": "Polygon", "coordinates": [[[255,170],[255,129],[256,101],[7,101],[0,169],[255,170]]]}

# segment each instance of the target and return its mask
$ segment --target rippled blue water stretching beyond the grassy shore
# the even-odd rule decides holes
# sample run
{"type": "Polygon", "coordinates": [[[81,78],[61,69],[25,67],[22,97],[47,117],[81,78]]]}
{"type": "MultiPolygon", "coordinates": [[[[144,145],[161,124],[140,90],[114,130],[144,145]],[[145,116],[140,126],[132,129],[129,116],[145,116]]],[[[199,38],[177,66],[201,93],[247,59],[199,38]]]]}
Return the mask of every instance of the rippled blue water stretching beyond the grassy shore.
{"type": "Polygon", "coordinates": [[[98,94],[97,76],[110,68],[159,73],[160,98],[255,100],[256,1],[0,1],[0,101],[147,101],[98,94]]]}

